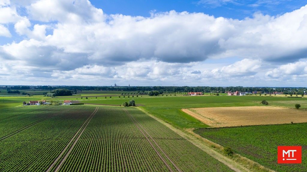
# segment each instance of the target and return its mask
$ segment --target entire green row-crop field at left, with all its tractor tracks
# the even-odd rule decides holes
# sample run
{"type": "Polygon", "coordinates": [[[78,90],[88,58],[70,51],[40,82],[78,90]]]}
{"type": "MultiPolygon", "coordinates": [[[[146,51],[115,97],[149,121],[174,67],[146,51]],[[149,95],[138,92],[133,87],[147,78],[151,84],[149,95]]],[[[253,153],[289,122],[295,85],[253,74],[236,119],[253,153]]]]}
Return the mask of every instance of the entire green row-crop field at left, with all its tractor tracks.
{"type": "Polygon", "coordinates": [[[2,112],[0,171],[232,171],[135,108],[35,107],[2,112]]]}

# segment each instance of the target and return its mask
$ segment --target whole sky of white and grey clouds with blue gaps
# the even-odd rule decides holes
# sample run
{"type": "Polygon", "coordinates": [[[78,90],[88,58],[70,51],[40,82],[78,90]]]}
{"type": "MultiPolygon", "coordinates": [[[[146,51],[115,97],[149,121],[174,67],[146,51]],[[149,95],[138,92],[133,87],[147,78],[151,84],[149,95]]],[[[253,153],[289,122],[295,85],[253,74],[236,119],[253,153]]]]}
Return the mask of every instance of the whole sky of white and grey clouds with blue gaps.
{"type": "Polygon", "coordinates": [[[0,0],[0,85],[306,87],[306,4],[0,0]]]}

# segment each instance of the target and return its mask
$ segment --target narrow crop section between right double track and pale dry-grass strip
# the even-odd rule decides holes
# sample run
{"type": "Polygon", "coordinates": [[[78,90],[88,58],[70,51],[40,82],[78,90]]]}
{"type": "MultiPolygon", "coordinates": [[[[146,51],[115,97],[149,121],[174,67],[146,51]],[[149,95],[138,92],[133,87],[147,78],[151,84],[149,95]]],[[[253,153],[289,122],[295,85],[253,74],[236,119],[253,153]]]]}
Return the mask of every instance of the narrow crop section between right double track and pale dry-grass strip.
{"type": "Polygon", "coordinates": [[[129,111],[181,170],[232,171],[226,165],[142,111],[137,109],[130,109],[129,111]]]}

